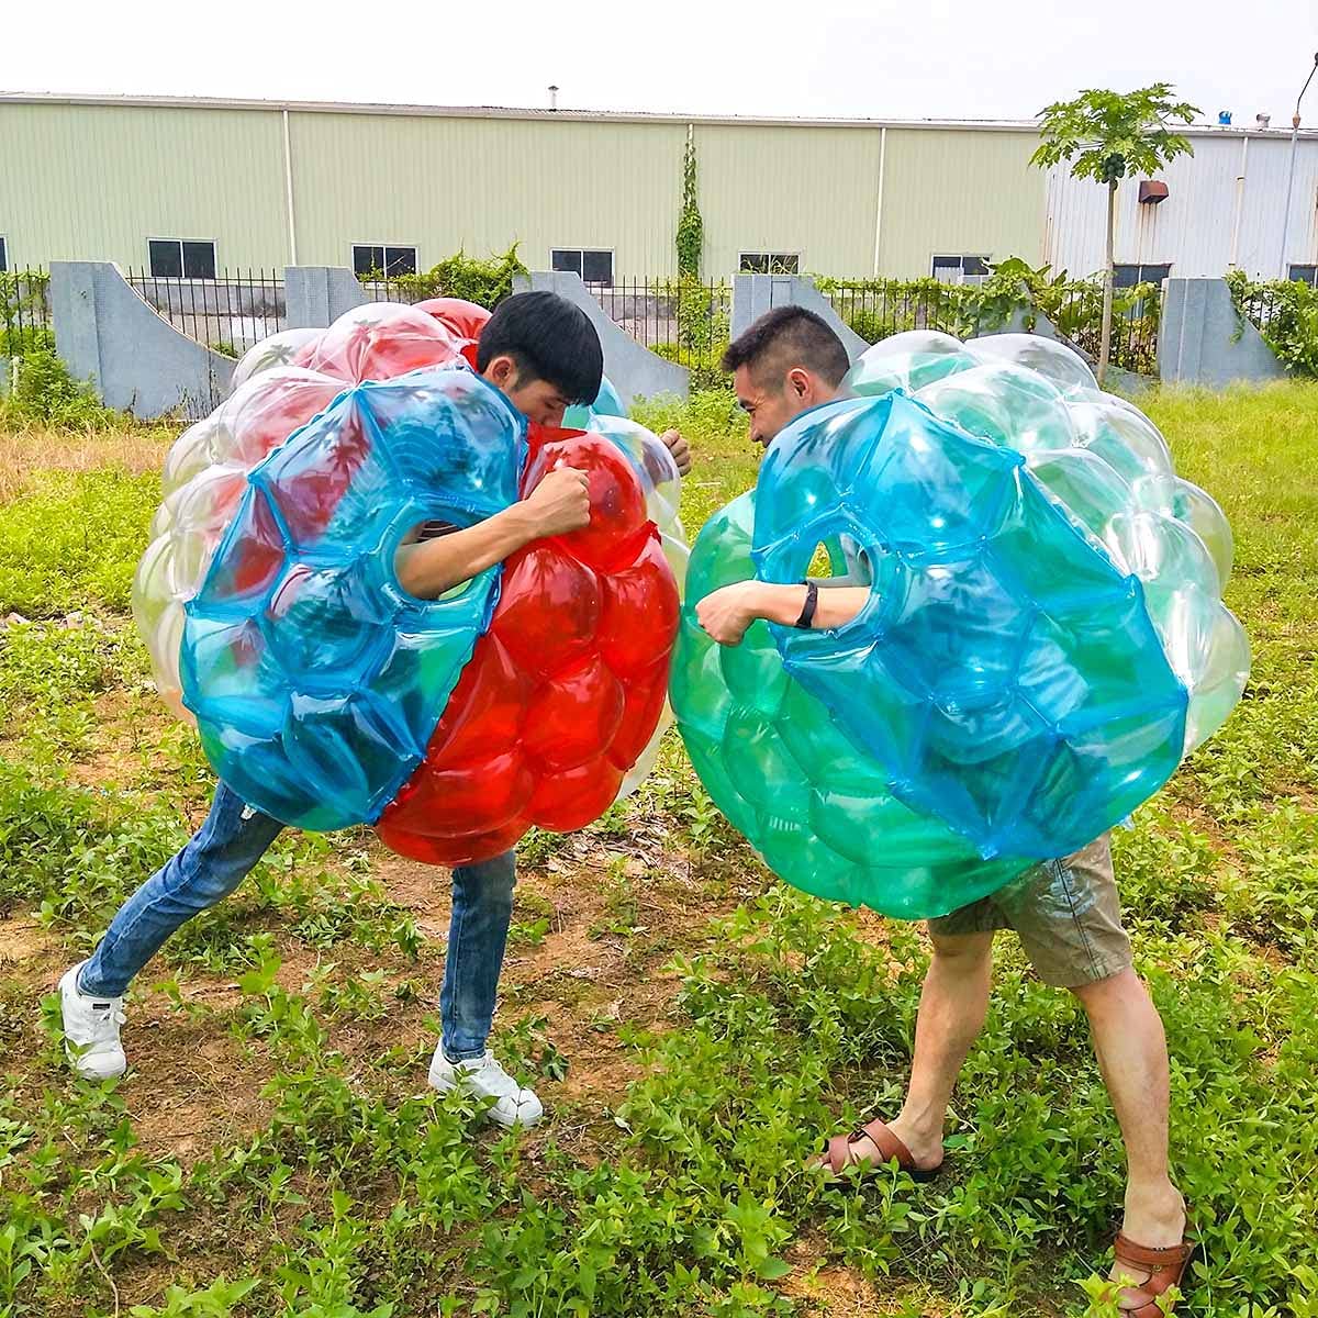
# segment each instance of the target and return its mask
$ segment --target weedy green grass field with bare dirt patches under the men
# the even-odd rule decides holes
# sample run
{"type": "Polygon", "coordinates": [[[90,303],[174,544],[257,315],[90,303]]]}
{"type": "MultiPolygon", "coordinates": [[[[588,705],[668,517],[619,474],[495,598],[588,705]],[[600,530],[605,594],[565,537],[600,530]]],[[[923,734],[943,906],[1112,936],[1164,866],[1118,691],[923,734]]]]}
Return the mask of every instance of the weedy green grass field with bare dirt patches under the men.
{"type": "MultiPolygon", "coordinates": [[[[1315,1318],[1318,386],[1148,410],[1232,521],[1255,646],[1116,837],[1205,1243],[1181,1311],[1315,1318]]],[[[693,440],[692,534],[751,482],[726,397],[643,419],[693,440]]],[[[128,1077],[72,1079],[49,995],[210,792],[127,616],[169,439],[0,434],[0,1318],[1086,1311],[1123,1165],[1070,998],[1002,940],[950,1176],[820,1185],[821,1135],[899,1101],[923,936],[778,884],[676,741],[522,846],[496,1044],[536,1131],[426,1091],[447,879],[365,832],[286,834],[134,987],[128,1077]]]]}

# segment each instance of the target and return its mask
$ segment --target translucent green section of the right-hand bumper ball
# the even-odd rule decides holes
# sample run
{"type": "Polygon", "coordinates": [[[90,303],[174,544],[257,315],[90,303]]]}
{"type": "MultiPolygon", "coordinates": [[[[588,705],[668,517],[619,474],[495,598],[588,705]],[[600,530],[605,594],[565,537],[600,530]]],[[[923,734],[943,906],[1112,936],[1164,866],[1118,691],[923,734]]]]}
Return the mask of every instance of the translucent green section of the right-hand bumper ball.
{"type": "Polygon", "coordinates": [[[751,492],[705,525],[673,651],[673,712],[714,804],[793,887],[898,919],[944,915],[1015,878],[1028,861],[983,861],[892,796],[883,766],[788,676],[767,623],[731,647],[701,630],[695,601],[755,575],[754,519],[751,492]]]}

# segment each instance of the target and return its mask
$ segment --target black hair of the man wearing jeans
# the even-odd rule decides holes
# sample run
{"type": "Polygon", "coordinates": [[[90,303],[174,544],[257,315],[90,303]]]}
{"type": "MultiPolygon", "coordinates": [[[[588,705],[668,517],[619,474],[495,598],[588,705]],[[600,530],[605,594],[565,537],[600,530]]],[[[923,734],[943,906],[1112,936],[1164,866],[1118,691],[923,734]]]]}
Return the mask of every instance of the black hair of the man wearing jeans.
{"type": "Polygon", "coordinates": [[[494,308],[476,369],[484,372],[496,357],[517,362],[519,384],[544,380],[573,403],[593,403],[604,378],[604,349],[590,318],[556,293],[515,293],[494,308]]]}

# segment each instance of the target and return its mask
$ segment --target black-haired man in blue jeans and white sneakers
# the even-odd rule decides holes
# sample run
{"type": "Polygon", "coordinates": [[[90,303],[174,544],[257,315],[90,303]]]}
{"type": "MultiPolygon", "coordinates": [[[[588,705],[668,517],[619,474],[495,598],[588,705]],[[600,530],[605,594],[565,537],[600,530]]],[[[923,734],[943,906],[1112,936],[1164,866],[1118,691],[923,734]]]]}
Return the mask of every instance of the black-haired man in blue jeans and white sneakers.
{"type": "MultiPolygon", "coordinates": [[[[573,402],[593,401],[602,366],[600,339],[587,315],[552,293],[505,301],[482,330],[476,357],[480,374],[542,426],[560,424],[573,402]]],[[[663,438],[679,471],[689,471],[681,436],[670,431],[663,438]]],[[[552,471],[526,500],[485,522],[428,539],[430,525],[419,529],[398,551],[399,583],[420,598],[438,598],[525,544],[577,530],[589,517],[585,473],[552,471]]],[[[120,1025],[133,977],[175,929],[237,888],[282,829],[278,820],[217,784],[202,828],[124,903],[92,956],[59,982],[63,1029],[76,1070],[94,1078],[124,1073],[120,1025]]],[[[430,1083],[442,1091],[463,1087],[490,1101],[489,1116],[502,1126],[534,1126],[543,1115],[539,1098],[486,1048],[515,879],[513,851],[453,870],[440,1040],[430,1083]]]]}

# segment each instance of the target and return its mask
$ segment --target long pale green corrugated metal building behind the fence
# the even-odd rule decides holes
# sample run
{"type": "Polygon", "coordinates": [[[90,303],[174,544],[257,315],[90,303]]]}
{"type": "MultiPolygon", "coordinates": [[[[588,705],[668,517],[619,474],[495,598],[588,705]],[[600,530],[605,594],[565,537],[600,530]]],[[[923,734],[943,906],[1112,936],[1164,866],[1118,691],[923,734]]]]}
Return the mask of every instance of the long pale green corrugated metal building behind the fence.
{"type": "Polygon", "coordinates": [[[688,133],[706,275],[1043,258],[1029,124],[92,96],[0,96],[0,240],[9,268],[426,269],[518,243],[532,269],[662,275],[688,133]]]}

